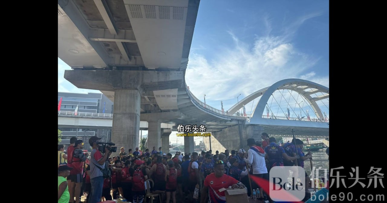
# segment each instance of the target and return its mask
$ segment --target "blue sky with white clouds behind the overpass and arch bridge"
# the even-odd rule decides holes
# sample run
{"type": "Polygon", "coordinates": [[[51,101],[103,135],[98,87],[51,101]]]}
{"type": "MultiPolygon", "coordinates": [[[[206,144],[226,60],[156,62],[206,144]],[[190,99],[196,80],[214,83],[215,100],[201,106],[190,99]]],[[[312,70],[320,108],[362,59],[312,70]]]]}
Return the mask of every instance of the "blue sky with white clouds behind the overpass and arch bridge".
{"type": "MultiPolygon", "coordinates": [[[[65,69],[70,67],[58,58],[58,91],[99,93],[66,81],[65,69]]],[[[208,105],[220,109],[223,101],[228,110],[237,103],[235,96],[241,94],[241,100],[286,78],[329,88],[329,1],[200,2],[186,72],[197,98],[203,101],[205,94],[208,105]]],[[[286,91],[283,95],[291,97],[286,91]]],[[[297,106],[301,101],[288,103],[297,106]]],[[[318,104],[329,115],[329,100],[318,104]]],[[[286,104],[277,103],[273,112],[281,114],[278,106],[286,109],[286,104]]],[[[251,109],[252,102],[246,105],[247,114],[251,109]]]]}

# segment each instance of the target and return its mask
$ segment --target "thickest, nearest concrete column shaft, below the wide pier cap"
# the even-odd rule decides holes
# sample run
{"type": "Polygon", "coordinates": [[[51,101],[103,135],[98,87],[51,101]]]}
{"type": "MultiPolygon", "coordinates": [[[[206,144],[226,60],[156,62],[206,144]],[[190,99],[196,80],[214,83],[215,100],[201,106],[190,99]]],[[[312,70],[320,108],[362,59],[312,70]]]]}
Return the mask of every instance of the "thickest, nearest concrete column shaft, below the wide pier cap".
{"type": "Polygon", "coordinates": [[[140,101],[138,89],[117,89],[114,91],[114,115],[111,142],[125,150],[135,149],[139,143],[140,101]]]}

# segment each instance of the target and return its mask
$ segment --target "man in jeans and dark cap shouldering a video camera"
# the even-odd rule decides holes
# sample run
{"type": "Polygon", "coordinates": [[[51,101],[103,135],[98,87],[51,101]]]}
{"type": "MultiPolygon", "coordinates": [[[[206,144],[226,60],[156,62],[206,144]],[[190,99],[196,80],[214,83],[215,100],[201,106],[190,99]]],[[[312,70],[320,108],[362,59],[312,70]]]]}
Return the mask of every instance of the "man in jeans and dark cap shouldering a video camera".
{"type": "Polygon", "coordinates": [[[99,139],[102,138],[92,136],[89,139],[89,144],[92,146],[90,158],[91,200],[89,203],[98,203],[101,200],[104,179],[101,169],[108,167],[105,162],[111,155],[111,151],[105,147],[105,154],[102,156],[101,152],[98,150],[99,145],[97,144],[97,141],[99,139]],[[101,169],[99,169],[97,166],[101,169]]]}

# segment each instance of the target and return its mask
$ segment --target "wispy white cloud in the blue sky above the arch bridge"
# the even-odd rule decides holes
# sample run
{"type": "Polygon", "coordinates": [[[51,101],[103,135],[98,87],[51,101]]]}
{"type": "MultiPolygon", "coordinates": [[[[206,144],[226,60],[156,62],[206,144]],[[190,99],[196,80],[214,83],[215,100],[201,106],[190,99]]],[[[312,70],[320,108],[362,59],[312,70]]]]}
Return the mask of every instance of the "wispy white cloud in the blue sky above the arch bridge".
{"type": "MultiPolygon", "coordinates": [[[[209,103],[226,101],[225,110],[236,103],[235,96],[240,93],[241,100],[286,78],[307,79],[329,87],[328,76],[317,76],[310,71],[320,57],[301,52],[292,41],[303,22],[319,15],[313,13],[301,16],[289,23],[282,34],[277,36],[270,34],[272,21],[269,15],[265,15],[262,20],[266,35],[257,36],[252,45],[242,41],[233,31],[227,31],[233,44],[225,47],[211,60],[196,50],[190,53],[186,71],[187,85],[194,95],[205,94],[209,103]]],[[[250,112],[251,107],[251,103],[246,106],[247,112],[250,112]]]]}

